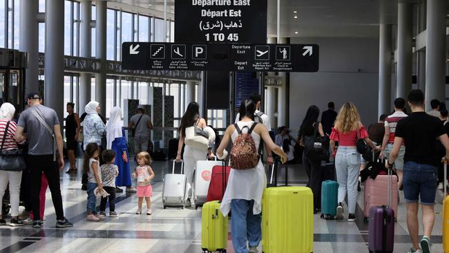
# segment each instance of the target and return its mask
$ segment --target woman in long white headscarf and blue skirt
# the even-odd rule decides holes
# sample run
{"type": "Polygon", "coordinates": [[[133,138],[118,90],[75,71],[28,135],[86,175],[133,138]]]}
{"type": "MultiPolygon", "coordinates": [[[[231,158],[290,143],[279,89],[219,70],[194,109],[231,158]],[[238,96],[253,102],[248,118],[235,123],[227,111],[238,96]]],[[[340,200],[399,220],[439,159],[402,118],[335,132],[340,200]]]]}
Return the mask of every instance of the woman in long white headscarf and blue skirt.
{"type": "Polygon", "coordinates": [[[115,186],[126,186],[126,191],[133,191],[131,188],[131,169],[128,162],[128,143],[122,127],[122,109],[113,107],[109,115],[109,122],[106,127],[106,148],[115,152],[115,165],[119,167],[119,176],[115,178],[115,186]]]}

